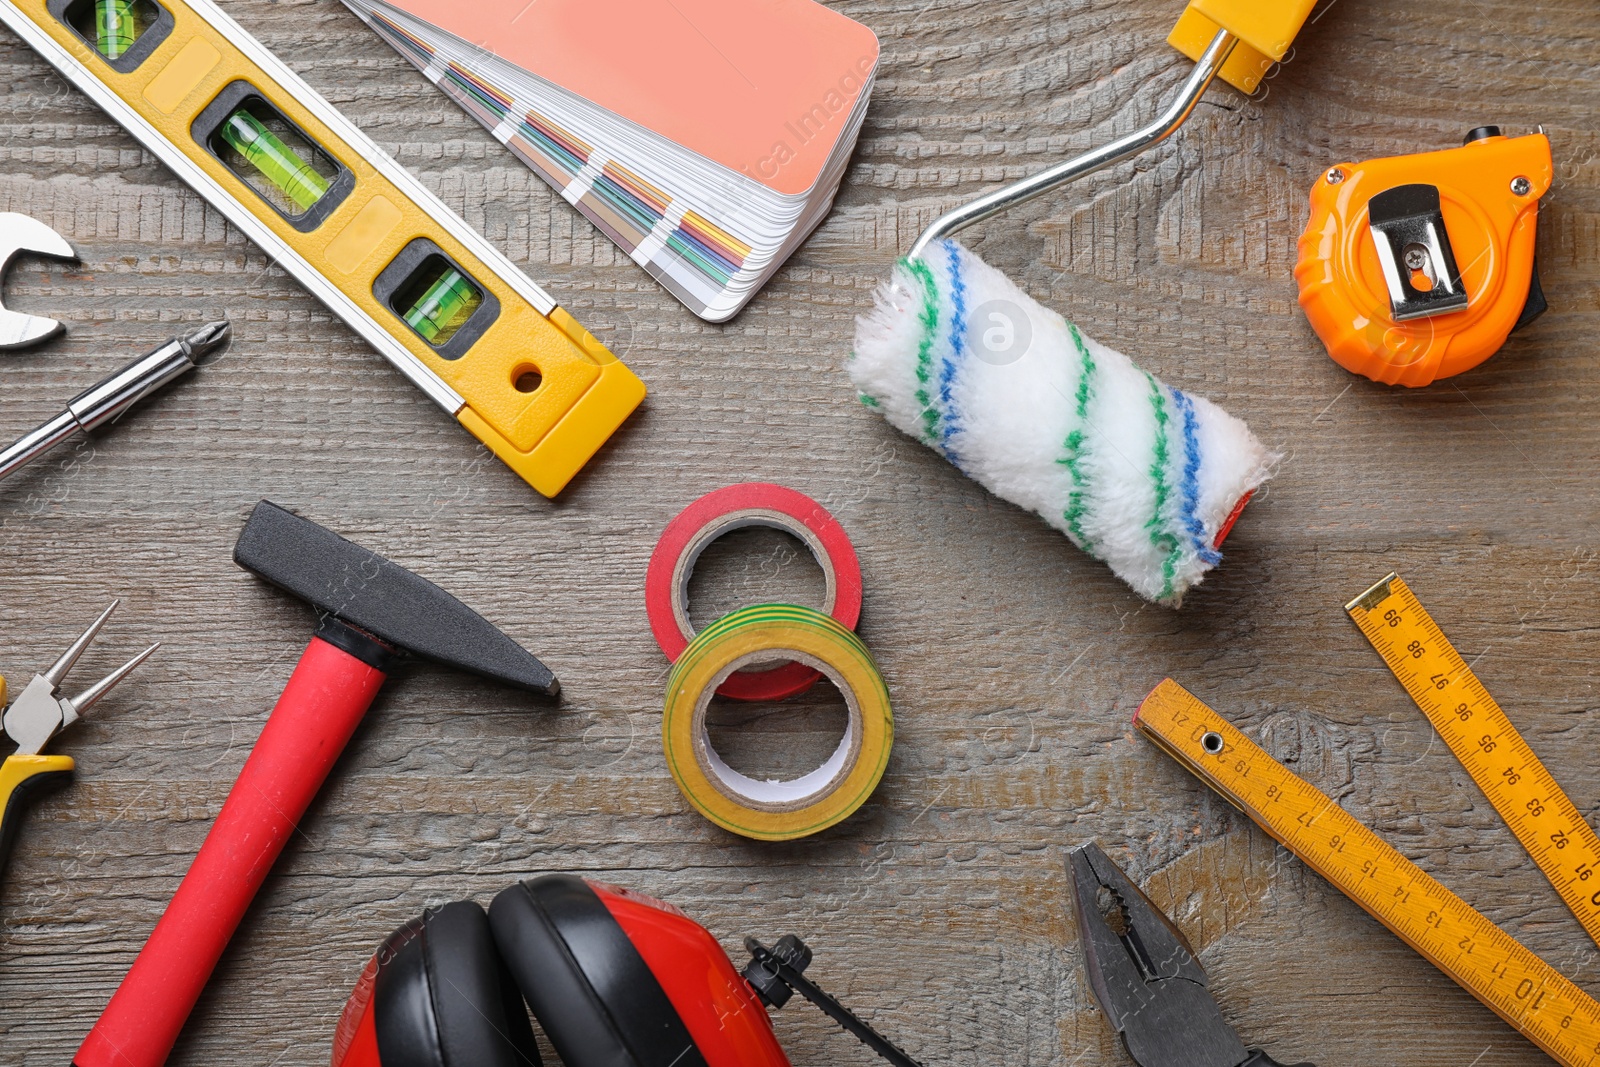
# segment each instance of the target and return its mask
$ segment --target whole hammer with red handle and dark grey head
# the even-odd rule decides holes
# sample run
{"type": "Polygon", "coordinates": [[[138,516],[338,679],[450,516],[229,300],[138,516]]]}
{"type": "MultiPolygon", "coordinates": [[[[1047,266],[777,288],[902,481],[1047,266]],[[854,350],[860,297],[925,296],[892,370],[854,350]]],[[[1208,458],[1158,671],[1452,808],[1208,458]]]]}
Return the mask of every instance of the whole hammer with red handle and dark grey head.
{"type": "Polygon", "coordinates": [[[267,717],[155,933],[83,1040],[75,1067],[160,1067],[234,929],[334,760],[406,654],[555,696],[555,677],[424,577],[270,501],[234,560],[310,601],[315,635],[267,717]]]}

